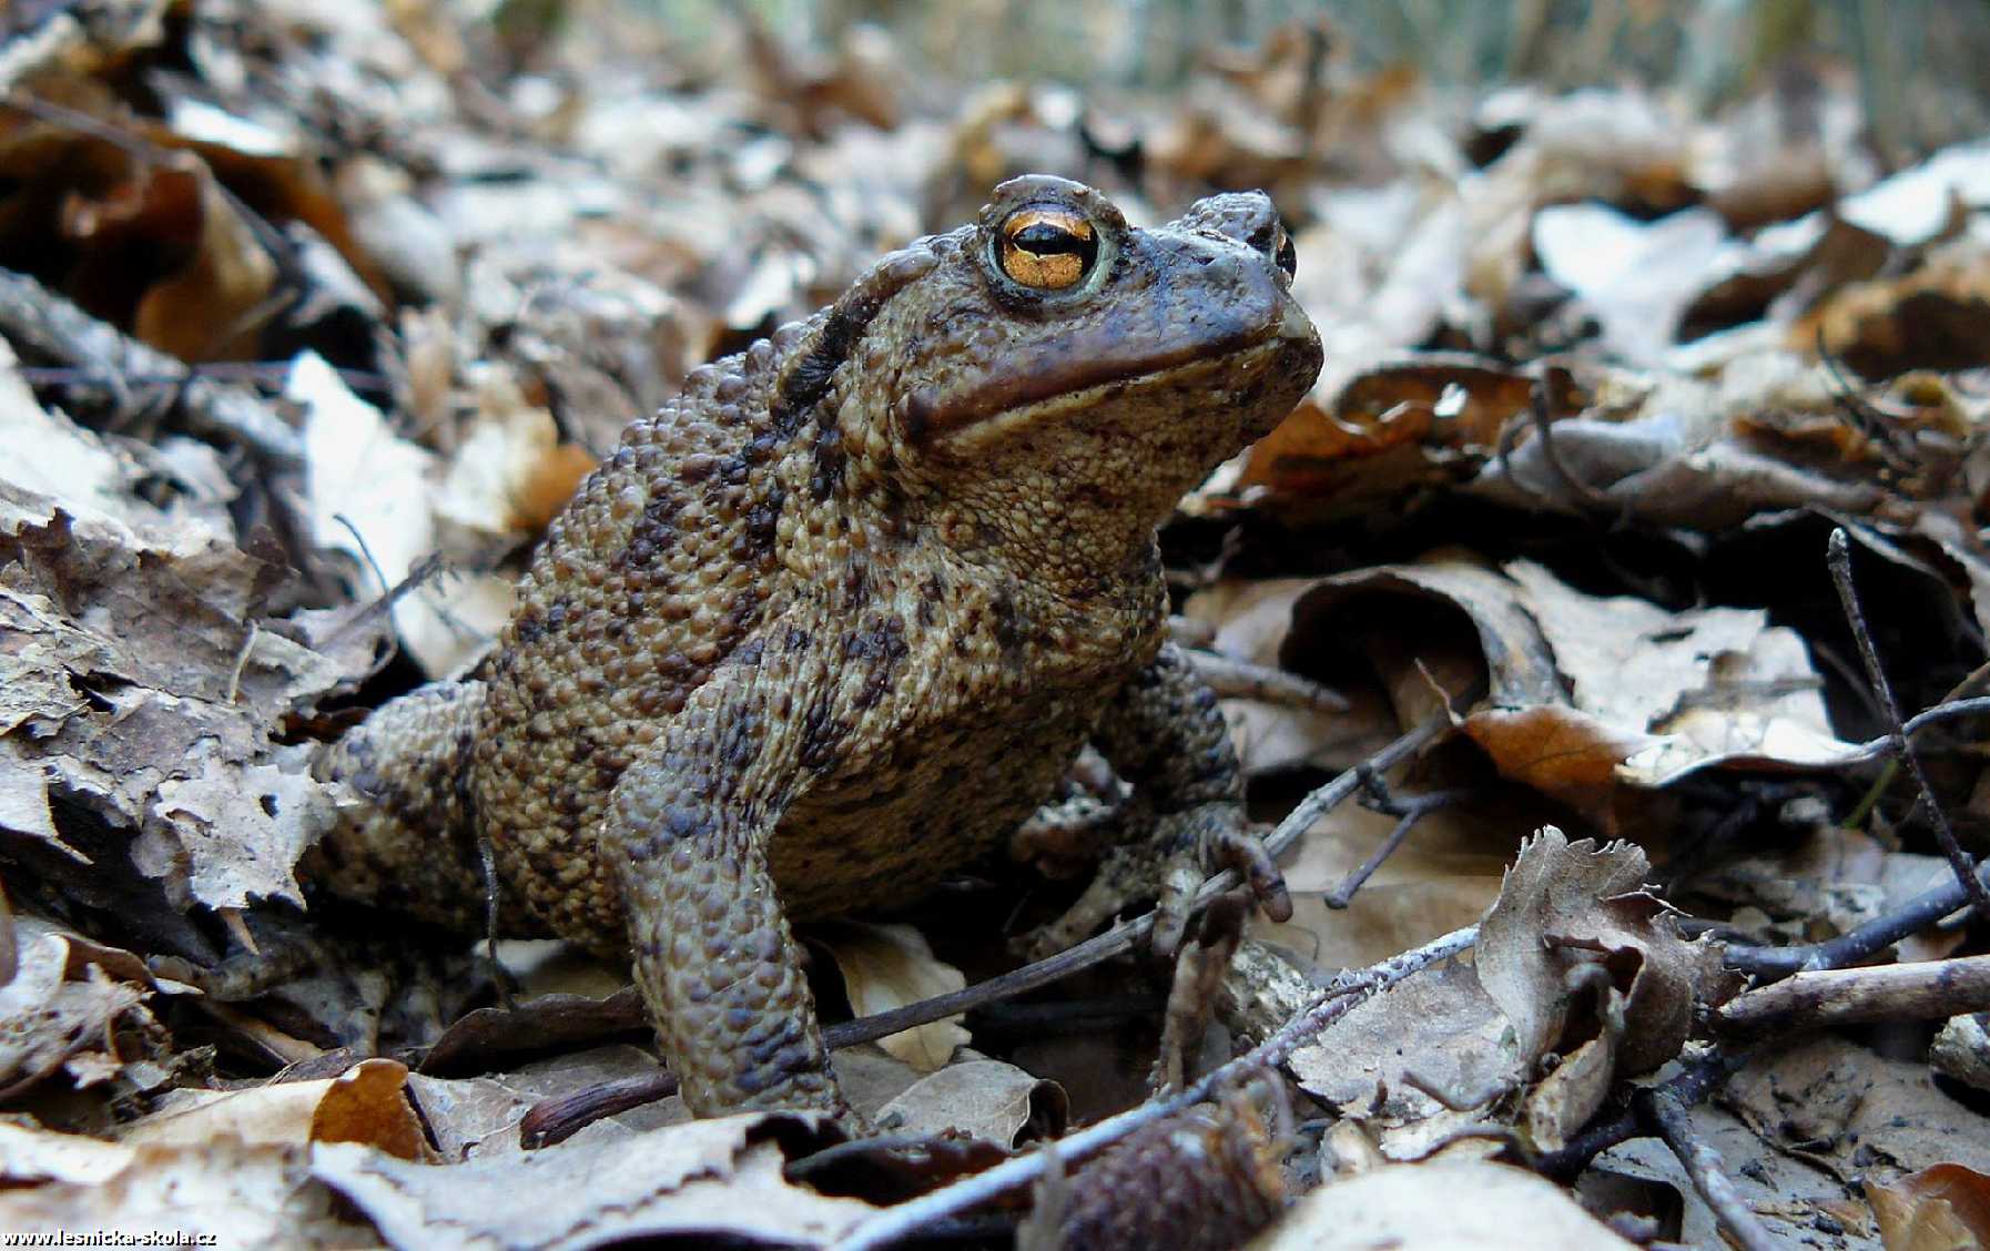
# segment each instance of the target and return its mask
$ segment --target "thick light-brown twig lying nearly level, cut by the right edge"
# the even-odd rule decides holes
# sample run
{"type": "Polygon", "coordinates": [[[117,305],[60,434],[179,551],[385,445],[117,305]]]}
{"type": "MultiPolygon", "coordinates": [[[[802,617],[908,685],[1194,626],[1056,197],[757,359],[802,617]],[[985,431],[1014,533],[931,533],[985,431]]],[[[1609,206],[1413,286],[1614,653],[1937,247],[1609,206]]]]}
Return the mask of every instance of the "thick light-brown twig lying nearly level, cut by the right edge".
{"type": "Polygon", "coordinates": [[[1723,1034],[1861,1020],[1932,1020],[1990,1012],[1990,955],[1873,969],[1821,969],[1735,996],[1713,1012],[1723,1034]]]}

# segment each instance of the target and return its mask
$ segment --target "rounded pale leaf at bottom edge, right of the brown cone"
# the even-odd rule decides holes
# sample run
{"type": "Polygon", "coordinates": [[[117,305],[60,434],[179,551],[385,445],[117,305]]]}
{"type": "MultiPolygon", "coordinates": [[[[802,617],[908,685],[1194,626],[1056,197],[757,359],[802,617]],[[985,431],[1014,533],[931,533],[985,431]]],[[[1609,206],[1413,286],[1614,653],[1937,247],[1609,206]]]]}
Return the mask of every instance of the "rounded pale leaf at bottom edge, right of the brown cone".
{"type": "Polygon", "coordinates": [[[1568,1191],[1508,1163],[1389,1163],[1299,1199],[1248,1251],[1630,1251],[1568,1191]]]}

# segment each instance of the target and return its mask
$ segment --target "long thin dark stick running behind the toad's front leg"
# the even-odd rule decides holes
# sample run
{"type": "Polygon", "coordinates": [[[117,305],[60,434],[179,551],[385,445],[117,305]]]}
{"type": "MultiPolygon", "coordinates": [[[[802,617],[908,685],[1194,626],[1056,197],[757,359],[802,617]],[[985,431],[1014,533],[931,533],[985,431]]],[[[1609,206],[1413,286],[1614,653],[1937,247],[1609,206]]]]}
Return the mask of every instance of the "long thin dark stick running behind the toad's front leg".
{"type": "MultiPolygon", "coordinates": [[[[1469,692],[1465,700],[1455,702],[1469,702],[1473,698],[1479,698],[1477,690],[1469,692]]],[[[1294,807],[1292,813],[1278,823],[1278,829],[1264,839],[1266,851],[1278,855],[1297,841],[1297,837],[1305,833],[1313,821],[1361,790],[1365,778],[1387,774],[1449,734],[1453,728],[1451,716],[1451,708],[1439,708],[1389,746],[1299,800],[1299,805],[1294,807]]],[[[1218,895],[1236,889],[1240,883],[1242,879],[1234,871],[1226,869],[1224,873],[1218,873],[1210,881],[1202,883],[1200,891],[1196,891],[1194,907],[1206,907],[1218,895]]],[[[1053,957],[1001,973],[975,983],[973,986],[949,990],[947,994],[935,994],[933,998],[921,998],[919,1002],[905,1004],[903,1008],[892,1008],[890,1012],[832,1024],[822,1030],[822,1040],[830,1046],[830,1050],[856,1046],[860,1042],[876,1042],[878,1038],[897,1034],[899,1030],[909,1030],[933,1020],[943,1020],[957,1012],[969,1012],[987,1002],[1011,998],[1039,986],[1049,986],[1051,983],[1083,973],[1093,965],[1126,955],[1152,929],[1152,913],[1134,917],[1132,921],[1122,921],[1106,933],[1087,939],[1077,947],[1067,947],[1053,957]]],[[[561,1142],[587,1126],[587,1120],[609,1116],[613,1112],[627,1112],[629,1108],[641,1108],[643,1104],[677,1094],[677,1076],[659,1068],[655,1074],[621,1078],[611,1086],[615,1090],[609,1096],[603,1096],[601,1104],[595,1104],[593,1100],[571,1100],[573,1106],[569,1108],[567,1098],[543,1100],[535,1104],[531,1112],[525,1114],[525,1122],[519,1124],[521,1136],[529,1134],[539,1144],[561,1142]],[[607,1110],[595,1112],[597,1106],[607,1110]],[[579,1120],[583,1116],[587,1120],[579,1120]]]]}

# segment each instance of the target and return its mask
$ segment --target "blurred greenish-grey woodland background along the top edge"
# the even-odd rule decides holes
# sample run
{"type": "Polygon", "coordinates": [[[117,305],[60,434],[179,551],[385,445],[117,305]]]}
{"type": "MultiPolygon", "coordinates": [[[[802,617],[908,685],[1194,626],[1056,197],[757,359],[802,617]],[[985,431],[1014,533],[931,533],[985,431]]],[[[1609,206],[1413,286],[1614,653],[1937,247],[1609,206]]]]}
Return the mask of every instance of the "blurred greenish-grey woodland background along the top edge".
{"type": "MultiPolygon", "coordinates": [[[[1178,88],[1198,58],[1258,44],[1290,24],[1333,34],[1323,58],[1411,68],[1475,91],[1666,84],[1707,109],[1795,62],[1855,76],[1881,151],[1894,159],[1990,121],[1990,4],[1982,0],[623,0],[685,48],[712,48],[748,16],[802,44],[834,46],[882,26],[951,80],[1055,80],[1091,88],[1178,88]]],[[[511,0],[557,20],[573,6],[511,0]]]]}

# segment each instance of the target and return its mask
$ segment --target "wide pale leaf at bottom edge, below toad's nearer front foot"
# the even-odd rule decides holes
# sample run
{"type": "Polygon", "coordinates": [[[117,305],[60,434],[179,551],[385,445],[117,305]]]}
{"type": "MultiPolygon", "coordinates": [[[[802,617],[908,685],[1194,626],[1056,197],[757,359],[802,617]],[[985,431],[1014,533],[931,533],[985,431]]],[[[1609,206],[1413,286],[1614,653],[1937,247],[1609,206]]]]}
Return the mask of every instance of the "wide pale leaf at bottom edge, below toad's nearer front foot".
{"type": "Polygon", "coordinates": [[[800,1150],[822,1126],[788,1114],[728,1116],[458,1165],[322,1144],[310,1167],[394,1247],[579,1251],[671,1235],[822,1245],[878,1211],[782,1177],[782,1144],[800,1150]]]}

